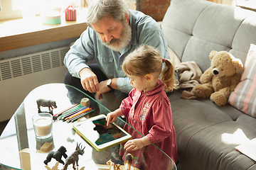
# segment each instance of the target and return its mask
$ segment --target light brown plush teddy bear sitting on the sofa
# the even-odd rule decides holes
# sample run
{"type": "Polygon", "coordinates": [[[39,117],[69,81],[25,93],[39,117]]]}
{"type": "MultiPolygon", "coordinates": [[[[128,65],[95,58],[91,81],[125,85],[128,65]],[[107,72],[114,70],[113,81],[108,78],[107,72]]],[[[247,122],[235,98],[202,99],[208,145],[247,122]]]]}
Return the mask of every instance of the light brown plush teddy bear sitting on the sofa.
{"type": "Polygon", "coordinates": [[[200,77],[191,93],[198,98],[208,98],[218,106],[224,106],[241,78],[243,64],[229,52],[210,52],[210,67],[200,77]]]}

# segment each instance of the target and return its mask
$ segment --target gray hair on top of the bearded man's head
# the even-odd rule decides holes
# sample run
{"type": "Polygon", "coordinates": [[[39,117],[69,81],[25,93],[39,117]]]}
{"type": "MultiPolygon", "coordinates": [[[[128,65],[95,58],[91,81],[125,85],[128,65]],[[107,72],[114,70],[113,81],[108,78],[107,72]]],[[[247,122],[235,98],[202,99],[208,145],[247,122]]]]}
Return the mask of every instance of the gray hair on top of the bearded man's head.
{"type": "Polygon", "coordinates": [[[124,0],[93,0],[88,6],[87,25],[97,23],[103,17],[112,17],[114,21],[124,21],[129,8],[124,0]],[[122,15],[123,13],[123,15],[122,15]]]}

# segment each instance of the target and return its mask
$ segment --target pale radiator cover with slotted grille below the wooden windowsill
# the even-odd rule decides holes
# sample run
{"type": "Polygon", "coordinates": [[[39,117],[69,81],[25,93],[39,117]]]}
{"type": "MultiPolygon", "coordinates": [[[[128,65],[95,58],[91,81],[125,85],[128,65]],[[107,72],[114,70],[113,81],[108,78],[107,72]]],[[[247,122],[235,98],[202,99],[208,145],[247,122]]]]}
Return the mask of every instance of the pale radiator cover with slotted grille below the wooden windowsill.
{"type": "MultiPolygon", "coordinates": [[[[0,122],[9,120],[30,91],[49,83],[63,83],[68,47],[0,61],[0,122]]],[[[36,102],[36,101],[35,101],[36,102]]]]}

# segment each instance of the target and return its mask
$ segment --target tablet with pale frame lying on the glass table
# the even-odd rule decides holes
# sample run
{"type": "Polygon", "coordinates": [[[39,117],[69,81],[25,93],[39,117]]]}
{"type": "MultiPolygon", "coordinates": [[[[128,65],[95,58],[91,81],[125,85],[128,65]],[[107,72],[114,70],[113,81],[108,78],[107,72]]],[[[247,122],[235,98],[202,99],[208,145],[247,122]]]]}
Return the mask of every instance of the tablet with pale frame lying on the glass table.
{"type": "Polygon", "coordinates": [[[97,151],[107,149],[131,139],[128,132],[115,123],[107,126],[106,115],[95,117],[73,123],[73,128],[78,134],[90,143],[97,151]]]}

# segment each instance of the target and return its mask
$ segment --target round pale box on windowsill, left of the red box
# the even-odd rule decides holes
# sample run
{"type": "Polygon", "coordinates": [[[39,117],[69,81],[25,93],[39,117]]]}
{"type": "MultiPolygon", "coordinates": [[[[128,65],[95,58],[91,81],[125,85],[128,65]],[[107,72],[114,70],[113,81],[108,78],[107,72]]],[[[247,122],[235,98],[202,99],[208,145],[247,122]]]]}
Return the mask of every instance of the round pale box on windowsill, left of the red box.
{"type": "Polygon", "coordinates": [[[41,14],[43,23],[46,24],[60,24],[60,16],[60,12],[58,11],[48,11],[46,13],[41,14]]]}

